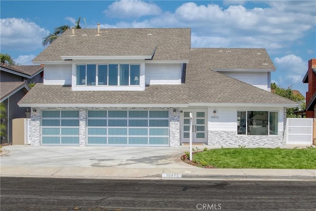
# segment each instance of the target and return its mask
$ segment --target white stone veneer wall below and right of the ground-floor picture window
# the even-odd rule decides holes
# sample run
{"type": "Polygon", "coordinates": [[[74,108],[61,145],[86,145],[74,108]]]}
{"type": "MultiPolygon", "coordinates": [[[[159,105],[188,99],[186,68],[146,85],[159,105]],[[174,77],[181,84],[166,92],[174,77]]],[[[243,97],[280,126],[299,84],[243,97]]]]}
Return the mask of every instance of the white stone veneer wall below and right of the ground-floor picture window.
{"type": "Polygon", "coordinates": [[[208,131],[208,145],[281,146],[286,144],[286,108],[283,108],[283,131],[278,135],[237,135],[237,131],[208,131]]]}

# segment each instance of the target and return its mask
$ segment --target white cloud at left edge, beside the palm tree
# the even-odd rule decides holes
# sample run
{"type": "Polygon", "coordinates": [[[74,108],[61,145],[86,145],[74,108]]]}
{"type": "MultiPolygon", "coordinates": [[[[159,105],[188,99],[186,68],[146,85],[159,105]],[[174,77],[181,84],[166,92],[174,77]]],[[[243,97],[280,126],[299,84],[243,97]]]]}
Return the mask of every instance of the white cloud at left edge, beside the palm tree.
{"type": "Polygon", "coordinates": [[[42,38],[48,30],[22,18],[0,19],[1,49],[33,51],[42,47],[42,38]]]}

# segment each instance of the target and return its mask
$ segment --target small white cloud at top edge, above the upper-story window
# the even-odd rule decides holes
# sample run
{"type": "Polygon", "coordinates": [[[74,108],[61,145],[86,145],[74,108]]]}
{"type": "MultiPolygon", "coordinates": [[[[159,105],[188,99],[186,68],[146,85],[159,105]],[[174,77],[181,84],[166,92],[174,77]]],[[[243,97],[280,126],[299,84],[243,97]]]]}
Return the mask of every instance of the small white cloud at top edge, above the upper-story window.
{"type": "Polygon", "coordinates": [[[159,15],[161,9],[152,2],[141,0],[120,0],[109,5],[105,14],[117,18],[139,18],[147,15],[159,15]]]}

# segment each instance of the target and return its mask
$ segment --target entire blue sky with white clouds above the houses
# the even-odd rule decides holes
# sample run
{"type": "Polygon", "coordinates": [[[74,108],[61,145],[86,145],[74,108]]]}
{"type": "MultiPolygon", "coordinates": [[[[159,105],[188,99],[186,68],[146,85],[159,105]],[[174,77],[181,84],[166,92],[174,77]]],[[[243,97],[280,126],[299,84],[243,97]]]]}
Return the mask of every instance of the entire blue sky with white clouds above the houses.
{"type": "Polygon", "coordinates": [[[276,66],[272,82],[303,95],[308,60],[316,58],[315,0],[1,0],[0,51],[32,64],[42,38],[78,17],[82,28],[190,27],[192,47],[266,48],[276,66]]]}

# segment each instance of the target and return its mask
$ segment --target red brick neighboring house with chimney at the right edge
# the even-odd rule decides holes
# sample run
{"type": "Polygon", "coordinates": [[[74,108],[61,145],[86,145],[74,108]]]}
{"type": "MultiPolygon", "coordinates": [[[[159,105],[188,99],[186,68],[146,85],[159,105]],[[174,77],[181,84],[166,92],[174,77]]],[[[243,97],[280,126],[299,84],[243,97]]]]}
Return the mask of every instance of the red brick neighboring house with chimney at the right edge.
{"type": "Polygon", "coordinates": [[[316,59],[308,61],[308,70],[304,76],[303,83],[308,83],[308,91],[306,92],[306,117],[316,118],[316,59]]]}

